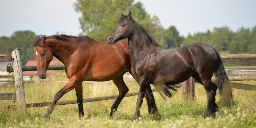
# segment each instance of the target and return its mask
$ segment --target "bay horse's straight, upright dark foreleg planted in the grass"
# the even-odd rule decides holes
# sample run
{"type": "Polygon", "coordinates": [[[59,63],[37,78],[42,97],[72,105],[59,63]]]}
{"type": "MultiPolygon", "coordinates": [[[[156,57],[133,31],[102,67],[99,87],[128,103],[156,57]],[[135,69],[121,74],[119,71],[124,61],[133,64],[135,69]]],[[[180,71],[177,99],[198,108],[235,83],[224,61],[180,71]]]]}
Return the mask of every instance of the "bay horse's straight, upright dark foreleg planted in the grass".
{"type": "Polygon", "coordinates": [[[75,87],[76,90],[76,98],[79,109],[79,118],[84,116],[84,108],[83,108],[83,84],[75,87]]]}

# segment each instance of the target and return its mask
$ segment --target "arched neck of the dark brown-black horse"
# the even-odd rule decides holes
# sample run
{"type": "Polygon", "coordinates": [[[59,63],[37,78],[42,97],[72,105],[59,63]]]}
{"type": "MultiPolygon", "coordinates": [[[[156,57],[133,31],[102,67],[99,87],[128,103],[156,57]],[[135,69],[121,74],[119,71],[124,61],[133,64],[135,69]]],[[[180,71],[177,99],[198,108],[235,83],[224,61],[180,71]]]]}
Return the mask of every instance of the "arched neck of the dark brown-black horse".
{"type": "Polygon", "coordinates": [[[149,47],[154,45],[151,43],[153,40],[146,30],[134,20],[132,21],[132,27],[132,35],[128,37],[129,52],[138,55],[140,51],[150,50],[149,47]]]}

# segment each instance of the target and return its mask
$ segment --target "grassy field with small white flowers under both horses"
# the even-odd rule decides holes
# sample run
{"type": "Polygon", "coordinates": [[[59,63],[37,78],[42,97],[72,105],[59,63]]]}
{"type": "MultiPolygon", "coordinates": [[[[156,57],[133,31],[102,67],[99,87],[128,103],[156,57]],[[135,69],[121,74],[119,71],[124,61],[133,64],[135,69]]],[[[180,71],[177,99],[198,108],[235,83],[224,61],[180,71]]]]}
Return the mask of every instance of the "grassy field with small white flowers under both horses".
{"type": "MultiPolygon", "coordinates": [[[[47,76],[43,81],[68,81],[66,76],[47,76]]],[[[129,92],[139,91],[136,82],[125,82],[129,92]]],[[[256,85],[255,81],[240,81],[244,84],[256,85]]],[[[66,83],[25,83],[26,103],[52,101],[66,83]]],[[[14,92],[14,84],[0,85],[0,93],[14,92]]],[[[160,121],[152,121],[148,116],[147,103],[141,107],[140,121],[133,121],[132,117],[136,108],[137,96],[124,98],[116,112],[116,119],[109,120],[109,112],[113,100],[104,100],[83,103],[85,117],[78,119],[78,106],[55,106],[51,120],[44,122],[43,114],[48,107],[27,108],[27,112],[20,112],[15,108],[8,109],[13,100],[0,100],[0,127],[254,127],[256,126],[256,93],[254,91],[233,89],[234,103],[229,107],[221,107],[215,119],[204,119],[207,106],[206,93],[201,84],[196,84],[196,101],[182,101],[181,88],[175,96],[167,101],[163,100],[157,92],[154,92],[157,107],[162,116],[160,121]]],[[[129,93],[128,92],[128,93],[129,93]]],[[[92,98],[108,95],[116,95],[118,90],[112,82],[83,83],[83,98],[92,98]]],[[[219,105],[219,94],[216,96],[219,105]]],[[[60,100],[76,100],[76,92],[72,90],[60,100]]]]}

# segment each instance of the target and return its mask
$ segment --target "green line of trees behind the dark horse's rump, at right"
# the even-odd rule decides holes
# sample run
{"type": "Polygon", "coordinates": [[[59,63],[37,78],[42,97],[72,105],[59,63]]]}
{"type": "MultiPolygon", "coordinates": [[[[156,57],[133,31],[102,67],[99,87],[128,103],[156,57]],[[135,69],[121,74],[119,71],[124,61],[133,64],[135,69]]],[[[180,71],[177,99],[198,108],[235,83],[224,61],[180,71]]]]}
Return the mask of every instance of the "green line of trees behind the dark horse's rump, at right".
{"type": "Polygon", "coordinates": [[[202,42],[209,44],[217,51],[227,51],[230,54],[255,54],[256,53],[256,26],[250,28],[241,27],[233,32],[227,26],[214,28],[212,32],[190,34],[181,44],[189,44],[191,42],[202,42]]]}

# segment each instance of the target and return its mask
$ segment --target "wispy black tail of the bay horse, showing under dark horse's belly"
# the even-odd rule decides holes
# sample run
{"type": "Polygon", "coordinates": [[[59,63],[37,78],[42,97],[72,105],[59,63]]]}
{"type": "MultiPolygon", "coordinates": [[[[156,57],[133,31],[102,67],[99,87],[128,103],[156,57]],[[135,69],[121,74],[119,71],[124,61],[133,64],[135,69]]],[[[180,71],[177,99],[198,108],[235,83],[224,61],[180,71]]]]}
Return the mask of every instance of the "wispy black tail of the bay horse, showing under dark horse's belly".
{"type": "Polygon", "coordinates": [[[166,100],[164,95],[171,98],[174,95],[174,93],[172,91],[176,92],[177,90],[175,88],[180,88],[180,86],[178,84],[174,84],[174,85],[161,85],[161,84],[155,85],[155,84],[153,84],[153,85],[155,86],[156,90],[158,91],[158,93],[164,100],[166,100]],[[163,93],[164,93],[164,95],[163,95],[163,93]]]}

